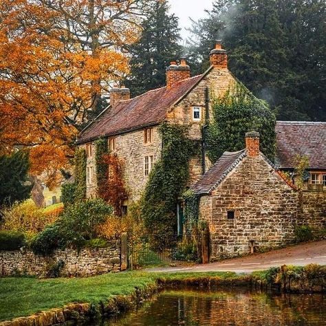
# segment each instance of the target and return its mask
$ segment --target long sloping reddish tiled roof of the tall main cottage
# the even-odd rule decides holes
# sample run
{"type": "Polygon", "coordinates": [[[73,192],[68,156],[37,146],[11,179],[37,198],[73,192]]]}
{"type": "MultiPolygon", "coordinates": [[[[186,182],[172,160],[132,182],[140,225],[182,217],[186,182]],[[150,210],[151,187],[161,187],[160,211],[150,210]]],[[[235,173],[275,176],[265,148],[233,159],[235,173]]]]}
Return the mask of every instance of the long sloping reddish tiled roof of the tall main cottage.
{"type": "Polygon", "coordinates": [[[123,133],[161,122],[165,118],[166,110],[197,85],[202,76],[182,80],[173,85],[171,89],[162,87],[147,91],[130,100],[118,102],[117,105],[109,107],[89,127],[84,129],[77,142],[89,142],[100,136],[123,133]]]}

